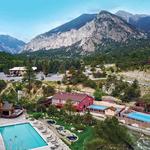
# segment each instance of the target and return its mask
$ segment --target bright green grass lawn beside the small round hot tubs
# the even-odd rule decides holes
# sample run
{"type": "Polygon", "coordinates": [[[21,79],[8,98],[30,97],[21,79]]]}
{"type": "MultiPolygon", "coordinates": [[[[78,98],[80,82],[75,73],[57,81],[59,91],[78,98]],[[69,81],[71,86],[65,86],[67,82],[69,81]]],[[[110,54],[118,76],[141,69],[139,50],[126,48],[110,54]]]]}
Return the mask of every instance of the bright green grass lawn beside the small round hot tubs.
{"type": "MultiPolygon", "coordinates": [[[[65,129],[68,129],[71,131],[71,128],[73,127],[73,125],[70,124],[66,124],[63,121],[60,121],[59,119],[54,119],[57,121],[58,125],[62,125],[65,127],[65,129]]],[[[84,149],[84,143],[90,139],[92,139],[93,137],[93,128],[92,127],[85,127],[85,130],[83,132],[77,132],[75,131],[71,131],[73,133],[75,133],[79,139],[78,141],[74,142],[71,144],[70,148],[71,150],[83,150],[84,149]]]]}

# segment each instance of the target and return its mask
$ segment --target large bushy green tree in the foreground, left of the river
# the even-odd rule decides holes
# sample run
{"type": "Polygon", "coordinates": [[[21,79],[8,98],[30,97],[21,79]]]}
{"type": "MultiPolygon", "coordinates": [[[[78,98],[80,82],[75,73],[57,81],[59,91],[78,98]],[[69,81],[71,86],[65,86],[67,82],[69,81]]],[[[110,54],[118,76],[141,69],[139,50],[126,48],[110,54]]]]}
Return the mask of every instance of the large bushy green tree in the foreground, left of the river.
{"type": "Polygon", "coordinates": [[[107,118],[94,127],[95,137],[86,143],[86,150],[128,150],[133,149],[127,129],[119,125],[116,118],[107,118]]]}

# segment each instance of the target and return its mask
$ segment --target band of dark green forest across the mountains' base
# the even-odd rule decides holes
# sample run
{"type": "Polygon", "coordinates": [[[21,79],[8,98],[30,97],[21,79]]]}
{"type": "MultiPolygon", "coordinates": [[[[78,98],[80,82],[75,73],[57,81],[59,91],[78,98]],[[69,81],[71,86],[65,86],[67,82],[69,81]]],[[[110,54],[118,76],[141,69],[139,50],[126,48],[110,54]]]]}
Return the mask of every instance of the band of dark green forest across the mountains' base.
{"type": "Polygon", "coordinates": [[[82,65],[100,65],[116,63],[123,70],[144,69],[150,64],[150,42],[147,40],[132,40],[125,44],[108,43],[107,46],[98,46],[95,53],[80,55],[81,50],[72,47],[65,51],[64,48],[33,53],[10,55],[0,52],[0,71],[8,72],[13,66],[24,66],[30,55],[32,64],[45,74],[64,72],[74,67],[80,69],[82,65]],[[82,61],[81,61],[82,60],[82,61]]]}

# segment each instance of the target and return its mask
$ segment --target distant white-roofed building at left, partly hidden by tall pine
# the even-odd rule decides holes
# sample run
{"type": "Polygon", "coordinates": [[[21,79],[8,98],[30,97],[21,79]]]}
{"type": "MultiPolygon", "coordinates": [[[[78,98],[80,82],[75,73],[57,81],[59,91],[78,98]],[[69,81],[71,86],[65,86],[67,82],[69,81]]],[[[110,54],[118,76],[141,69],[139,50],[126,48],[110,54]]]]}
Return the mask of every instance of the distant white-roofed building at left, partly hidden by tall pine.
{"type": "MultiPolygon", "coordinates": [[[[37,70],[37,67],[32,67],[34,71],[37,70]]],[[[9,69],[10,76],[23,76],[26,73],[26,67],[14,67],[9,69]]]]}

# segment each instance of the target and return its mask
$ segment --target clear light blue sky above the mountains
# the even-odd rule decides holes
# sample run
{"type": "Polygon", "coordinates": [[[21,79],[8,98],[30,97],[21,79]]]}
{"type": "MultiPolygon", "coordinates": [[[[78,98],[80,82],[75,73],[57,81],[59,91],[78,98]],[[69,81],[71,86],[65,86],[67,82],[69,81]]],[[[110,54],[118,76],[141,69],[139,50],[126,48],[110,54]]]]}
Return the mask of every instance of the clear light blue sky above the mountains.
{"type": "Polygon", "coordinates": [[[83,13],[101,10],[150,14],[150,0],[0,0],[0,34],[24,41],[83,13]]]}

